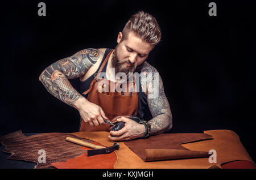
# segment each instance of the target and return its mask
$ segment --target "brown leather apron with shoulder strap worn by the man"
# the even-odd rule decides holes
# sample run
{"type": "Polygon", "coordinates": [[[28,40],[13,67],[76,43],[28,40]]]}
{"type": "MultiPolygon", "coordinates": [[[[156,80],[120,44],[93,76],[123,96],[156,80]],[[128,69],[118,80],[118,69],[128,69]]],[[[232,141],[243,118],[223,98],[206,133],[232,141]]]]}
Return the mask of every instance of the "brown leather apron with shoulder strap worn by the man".
{"type": "MultiPolygon", "coordinates": [[[[129,117],[130,115],[138,114],[138,91],[135,83],[135,76],[133,77],[133,81],[123,83],[112,82],[105,78],[98,78],[112,52],[113,50],[109,52],[104,60],[102,60],[104,62],[95,74],[89,89],[82,94],[86,95],[88,93],[87,100],[100,106],[106,117],[114,123],[116,117],[129,117]],[[103,92],[98,91],[98,89],[103,89],[103,92]]],[[[100,126],[90,126],[89,123],[85,123],[82,120],[80,131],[110,131],[111,127],[112,126],[105,123],[100,126]]]]}

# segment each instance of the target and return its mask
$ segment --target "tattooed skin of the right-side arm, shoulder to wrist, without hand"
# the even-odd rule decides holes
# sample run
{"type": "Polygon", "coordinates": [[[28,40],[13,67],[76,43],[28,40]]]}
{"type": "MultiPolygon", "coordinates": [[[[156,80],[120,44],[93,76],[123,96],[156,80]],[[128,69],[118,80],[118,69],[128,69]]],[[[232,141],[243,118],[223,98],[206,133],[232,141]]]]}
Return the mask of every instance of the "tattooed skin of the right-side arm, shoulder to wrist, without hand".
{"type": "MultiPolygon", "coordinates": [[[[147,89],[152,87],[155,80],[159,82],[159,95],[156,98],[148,98],[147,93],[147,104],[150,112],[152,114],[152,119],[148,121],[151,125],[150,135],[160,134],[164,131],[170,130],[172,127],[172,114],[169,102],[164,93],[164,86],[162,79],[159,75],[159,79],[155,79],[154,73],[158,72],[153,66],[149,63],[144,62],[140,68],[140,71],[143,72],[152,72],[152,79],[149,80],[147,84],[147,89]]],[[[147,91],[148,92],[148,91],[147,91]]]]}

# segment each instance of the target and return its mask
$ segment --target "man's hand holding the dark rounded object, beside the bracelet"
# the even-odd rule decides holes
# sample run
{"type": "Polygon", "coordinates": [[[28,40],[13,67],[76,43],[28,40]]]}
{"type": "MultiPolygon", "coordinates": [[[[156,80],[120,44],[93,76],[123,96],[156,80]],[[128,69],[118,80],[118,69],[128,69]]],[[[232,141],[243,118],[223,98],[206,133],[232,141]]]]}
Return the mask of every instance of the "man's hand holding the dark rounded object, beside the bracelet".
{"type": "Polygon", "coordinates": [[[119,131],[110,131],[109,139],[113,141],[131,140],[136,138],[141,138],[145,132],[146,128],[132,119],[121,117],[117,121],[125,122],[125,127],[119,131]]]}

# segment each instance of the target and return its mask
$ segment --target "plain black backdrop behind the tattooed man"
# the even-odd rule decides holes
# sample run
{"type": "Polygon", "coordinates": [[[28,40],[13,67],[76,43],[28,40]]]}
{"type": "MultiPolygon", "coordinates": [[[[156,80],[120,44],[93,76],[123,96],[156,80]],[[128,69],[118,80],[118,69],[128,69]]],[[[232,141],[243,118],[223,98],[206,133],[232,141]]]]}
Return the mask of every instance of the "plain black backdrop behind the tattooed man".
{"type": "MultiPolygon", "coordinates": [[[[51,63],[85,48],[114,48],[132,14],[150,12],[162,41],[148,62],[162,76],[170,132],[232,130],[255,158],[255,12],[252,1],[14,1],[2,6],[1,134],[75,132],[79,113],[39,82],[51,63]]],[[[71,83],[77,87],[79,80],[71,83]]]]}

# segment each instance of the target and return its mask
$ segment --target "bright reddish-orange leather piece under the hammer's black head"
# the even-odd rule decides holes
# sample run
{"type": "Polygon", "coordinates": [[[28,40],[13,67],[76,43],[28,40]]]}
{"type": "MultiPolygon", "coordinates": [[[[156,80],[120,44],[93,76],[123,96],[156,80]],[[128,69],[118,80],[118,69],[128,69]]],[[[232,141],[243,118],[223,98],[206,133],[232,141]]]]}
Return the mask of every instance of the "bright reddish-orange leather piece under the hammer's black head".
{"type": "MultiPolygon", "coordinates": [[[[101,145],[97,142],[93,144],[101,145]]],[[[91,148],[82,147],[82,149],[88,150],[91,148]]],[[[87,153],[84,153],[79,157],[68,159],[66,162],[53,162],[51,165],[58,169],[113,169],[116,161],[117,155],[115,155],[115,152],[89,157],[87,153]]]]}

